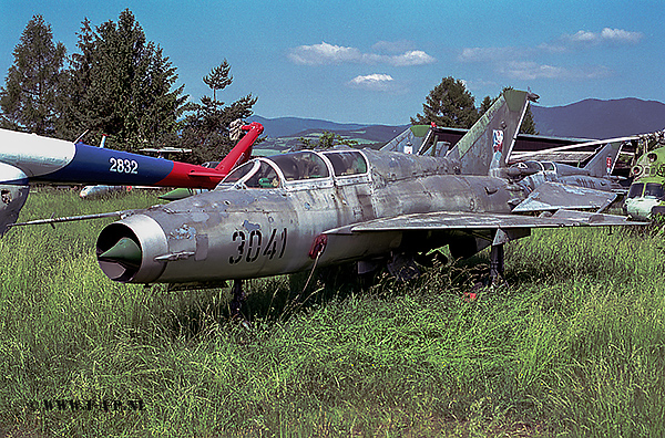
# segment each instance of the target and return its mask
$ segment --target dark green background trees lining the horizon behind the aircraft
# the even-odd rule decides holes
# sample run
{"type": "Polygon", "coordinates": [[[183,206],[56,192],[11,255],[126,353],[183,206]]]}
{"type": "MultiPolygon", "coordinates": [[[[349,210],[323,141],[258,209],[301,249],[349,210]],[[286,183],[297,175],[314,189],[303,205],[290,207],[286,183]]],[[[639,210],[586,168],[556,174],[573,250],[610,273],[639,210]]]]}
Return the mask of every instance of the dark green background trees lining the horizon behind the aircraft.
{"type": "MultiPolygon", "coordinates": [[[[233,147],[231,123],[253,114],[252,94],[231,104],[217,100],[233,82],[226,60],[203,77],[212,96],[188,102],[184,85],[176,86],[176,67],[129,9],[117,22],[95,28],[83,20],[76,36],[76,52],[68,56],[42,15],[28,22],[0,87],[0,127],[68,140],[84,135],[89,144],[106,134],[108,145],[123,150],[190,148],[186,159],[202,163],[226,155],[233,147]]],[[[492,102],[485,97],[475,108],[466,85],[444,77],[411,123],[468,128],[492,102]]],[[[535,133],[530,113],[522,128],[535,133]]]]}

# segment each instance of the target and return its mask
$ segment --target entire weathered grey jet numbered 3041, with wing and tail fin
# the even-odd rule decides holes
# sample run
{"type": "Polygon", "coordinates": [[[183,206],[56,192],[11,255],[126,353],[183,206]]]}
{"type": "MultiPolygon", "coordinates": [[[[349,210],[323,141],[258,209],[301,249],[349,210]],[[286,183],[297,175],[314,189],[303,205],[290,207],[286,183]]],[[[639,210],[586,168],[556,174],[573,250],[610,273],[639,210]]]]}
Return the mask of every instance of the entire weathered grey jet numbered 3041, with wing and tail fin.
{"type": "Polygon", "coordinates": [[[213,191],[104,228],[100,267],[121,282],[201,285],[377,258],[399,270],[400,260],[408,265],[444,244],[453,257],[491,244],[500,273],[503,243],[531,228],[624,223],[607,215],[511,213],[529,190],[488,176],[501,174],[508,148],[487,133],[514,138],[528,104],[526,93],[507,93],[482,119],[484,129],[470,131],[463,144],[471,146],[447,157],[341,148],[257,158],[213,191]]]}

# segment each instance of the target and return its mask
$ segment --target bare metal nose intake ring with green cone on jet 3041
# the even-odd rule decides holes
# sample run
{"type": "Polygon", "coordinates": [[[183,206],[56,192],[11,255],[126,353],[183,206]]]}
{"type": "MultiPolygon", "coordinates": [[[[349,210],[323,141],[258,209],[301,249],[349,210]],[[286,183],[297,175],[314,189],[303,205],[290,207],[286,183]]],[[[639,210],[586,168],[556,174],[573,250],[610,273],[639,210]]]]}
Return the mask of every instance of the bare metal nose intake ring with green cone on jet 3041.
{"type": "Polygon", "coordinates": [[[123,283],[156,281],[166,263],[155,257],[166,252],[164,230],[146,215],[130,216],[105,227],[98,238],[96,254],[101,270],[123,283]]]}

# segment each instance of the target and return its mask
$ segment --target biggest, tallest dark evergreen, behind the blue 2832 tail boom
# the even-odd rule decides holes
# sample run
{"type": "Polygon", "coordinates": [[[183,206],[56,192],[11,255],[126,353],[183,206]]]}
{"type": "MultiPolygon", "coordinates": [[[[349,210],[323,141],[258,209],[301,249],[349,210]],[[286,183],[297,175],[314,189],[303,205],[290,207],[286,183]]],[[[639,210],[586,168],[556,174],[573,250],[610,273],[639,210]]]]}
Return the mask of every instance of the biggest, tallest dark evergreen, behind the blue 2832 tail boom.
{"type": "Polygon", "coordinates": [[[78,48],[68,72],[64,132],[109,134],[114,147],[131,149],[180,128],[184,85],[174,87],[176,69],[129,9],[95,31],[83,21],[78,48]]]}

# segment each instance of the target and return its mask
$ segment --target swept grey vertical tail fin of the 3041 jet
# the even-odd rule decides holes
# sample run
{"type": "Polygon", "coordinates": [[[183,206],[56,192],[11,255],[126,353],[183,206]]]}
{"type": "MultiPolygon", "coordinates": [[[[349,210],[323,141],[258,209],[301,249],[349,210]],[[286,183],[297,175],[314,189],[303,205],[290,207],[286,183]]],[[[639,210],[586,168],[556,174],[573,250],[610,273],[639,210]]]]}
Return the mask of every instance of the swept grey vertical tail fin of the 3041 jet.
{"type": "Polygon", "coordinates": [[[459,160],[460,173],[488,175],[505,167],[529,101],[538,95],[505,90],[471,129],[454,145],[447,157],[459,160]]]}

